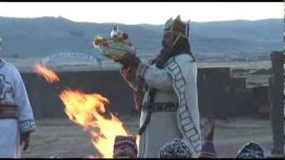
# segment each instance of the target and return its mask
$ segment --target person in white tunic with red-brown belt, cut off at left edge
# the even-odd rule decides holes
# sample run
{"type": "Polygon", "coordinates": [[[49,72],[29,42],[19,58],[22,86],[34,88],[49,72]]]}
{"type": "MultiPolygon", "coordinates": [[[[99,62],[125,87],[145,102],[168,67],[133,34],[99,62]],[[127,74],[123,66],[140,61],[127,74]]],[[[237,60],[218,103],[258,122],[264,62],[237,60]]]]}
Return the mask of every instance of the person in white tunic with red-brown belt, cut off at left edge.
{"type": "Polygon", "coordinates": [[[35,131],[33,111],[20,73],[0,59],[0,158],[20,158],[21,150],[28,148],[30,132],[35,131]]]}

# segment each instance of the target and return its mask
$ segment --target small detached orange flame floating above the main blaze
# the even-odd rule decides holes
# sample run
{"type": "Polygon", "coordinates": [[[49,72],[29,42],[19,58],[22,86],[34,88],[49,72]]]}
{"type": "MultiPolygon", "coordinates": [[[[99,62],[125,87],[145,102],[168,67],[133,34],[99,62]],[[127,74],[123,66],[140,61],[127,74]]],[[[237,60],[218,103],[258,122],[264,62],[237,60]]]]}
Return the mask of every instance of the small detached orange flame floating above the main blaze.
{"type": "Polygon", "coordinates": [[[42,62],[38,62],[35,65],[35,69],[37,74],[44,76],[48,83],[57,83],[60,81],[60,78],[53,72],[53,70],[47,68],[42,62]]]}

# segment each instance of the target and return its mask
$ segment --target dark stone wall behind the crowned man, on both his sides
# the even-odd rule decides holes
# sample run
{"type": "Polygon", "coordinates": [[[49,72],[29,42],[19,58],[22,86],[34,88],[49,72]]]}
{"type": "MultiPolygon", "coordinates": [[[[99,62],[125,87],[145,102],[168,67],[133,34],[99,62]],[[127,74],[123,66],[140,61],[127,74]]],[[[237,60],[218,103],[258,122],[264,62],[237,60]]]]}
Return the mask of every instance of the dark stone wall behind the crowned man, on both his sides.
{"type": "MultiPolygon", "coordinates": [[[[36,73],[21,73],[36,118],[67,117],[59,94],[64,87],[100,93],[110,100],[110,110],[119,116],[136,113],[133,94],[118,70],[58,73],[60,84],[48,84],[36,73]]],[[[198,93],[201,116],[240,116],[258,112],[252,89],[229,90],[230,68],[199,68],[198,93]]],[[[231,86],[232,87],[232,86],[231,86]]],[[[230,88],[231,88],[230,87],[230,88]]]]}

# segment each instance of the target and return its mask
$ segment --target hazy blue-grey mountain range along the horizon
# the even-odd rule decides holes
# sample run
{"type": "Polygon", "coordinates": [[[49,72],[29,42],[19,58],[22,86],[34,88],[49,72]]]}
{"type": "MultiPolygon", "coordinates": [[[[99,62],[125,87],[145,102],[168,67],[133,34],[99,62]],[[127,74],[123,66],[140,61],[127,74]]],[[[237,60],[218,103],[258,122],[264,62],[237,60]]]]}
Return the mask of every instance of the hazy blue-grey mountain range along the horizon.
{"type": "MultiPolygon", "coordinates": [[[[45,57],[56,52],[93,52],[94,36],[110,36],[114,24],[75,22],[62,17],[0,17],[2,57],[45,57]]],[[[163,25],[124,25],[139,54],[158,54],[163,25]]],[[[191,22],[191,50],[196,55],[238,57],[283,49],[283,20],[191,22]]]]}

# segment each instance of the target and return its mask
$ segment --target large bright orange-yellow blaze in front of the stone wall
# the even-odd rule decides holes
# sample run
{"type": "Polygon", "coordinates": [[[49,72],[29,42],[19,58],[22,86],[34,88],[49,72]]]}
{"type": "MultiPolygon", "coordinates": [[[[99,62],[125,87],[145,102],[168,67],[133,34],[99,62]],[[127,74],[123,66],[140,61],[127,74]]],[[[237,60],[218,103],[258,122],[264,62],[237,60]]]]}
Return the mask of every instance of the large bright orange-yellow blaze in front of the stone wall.
{"type": "Polygon", "coordinates": [[[100,151],[103,158],[112,158],[115,137],[129,133],[118,117],[106,111],[109,100],[100,94],[70,89],[61,92],[60,98],[69,119],[91,133],[94,148],[100,151]]]}

